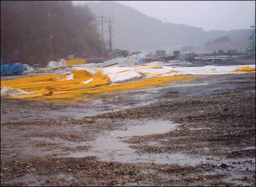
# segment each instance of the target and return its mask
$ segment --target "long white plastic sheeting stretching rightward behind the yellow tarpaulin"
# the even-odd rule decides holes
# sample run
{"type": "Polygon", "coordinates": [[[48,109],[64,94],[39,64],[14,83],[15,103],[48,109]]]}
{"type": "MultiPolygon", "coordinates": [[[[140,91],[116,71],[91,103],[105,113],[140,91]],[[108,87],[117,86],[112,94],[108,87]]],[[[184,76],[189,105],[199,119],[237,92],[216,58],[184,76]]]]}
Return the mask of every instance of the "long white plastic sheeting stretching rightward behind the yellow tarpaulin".
{"type": "Polygon", "coordinates": [[[200,67],[169,67],[155,68],[154,66],[134,66],[134,67],[103,67],[86,68],[76,67],[77,70],[86,70],[92,75],[101,71],[101,75],[109,76],[112,83],[131,80],[139,77],[164,77],[174,75],[214,75],[214,74],[242,74],[246,72],[234,72],[234,70],[249,66],[255,68],[255,65],[230,65],[230,66],[200,66],[200,67]]]}

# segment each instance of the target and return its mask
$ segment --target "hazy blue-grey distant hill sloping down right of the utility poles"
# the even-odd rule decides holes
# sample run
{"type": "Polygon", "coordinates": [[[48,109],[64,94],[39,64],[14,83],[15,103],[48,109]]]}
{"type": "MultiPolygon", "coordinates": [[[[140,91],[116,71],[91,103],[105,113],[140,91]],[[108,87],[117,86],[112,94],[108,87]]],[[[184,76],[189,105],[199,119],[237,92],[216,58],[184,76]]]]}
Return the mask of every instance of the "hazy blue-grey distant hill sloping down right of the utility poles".
{"type": "MultiPolygon", "coordinates": [[[[168,54],[187,45],[203,48],[208,41],[222,36],[228,36],[232,42],[247,42],[251,32],[250,29],[204,31],[183,24],[164,24],[160,19],[111,1],[88,2],[87,5],[96,16],[101,16],[103,11],[104,16],[114,17],[114,49],[166,50],[168,54]]],[[[107,26],[104,25],[104,28],[107,26]]],[[[104,33],[104,39],[109,39],[108,33],[104,33]]]]}

